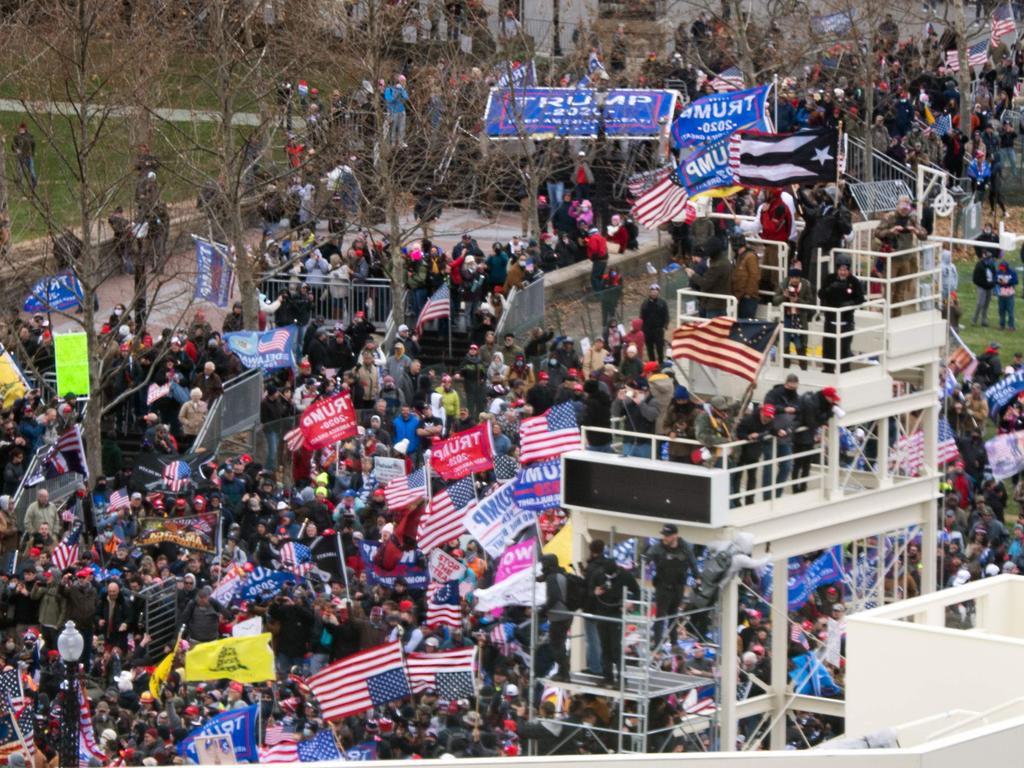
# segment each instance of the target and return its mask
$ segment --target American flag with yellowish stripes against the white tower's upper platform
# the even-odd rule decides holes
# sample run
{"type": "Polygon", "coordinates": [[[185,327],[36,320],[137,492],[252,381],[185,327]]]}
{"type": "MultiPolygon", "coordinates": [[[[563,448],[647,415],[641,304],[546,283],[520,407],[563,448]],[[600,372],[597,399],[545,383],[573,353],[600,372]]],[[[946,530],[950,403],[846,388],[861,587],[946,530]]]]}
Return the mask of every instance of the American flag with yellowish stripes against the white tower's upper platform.
{"type": "Polygon", "coordinates": [[[688,323],[672,334],[672,356],[754,381],[776,324],[715,317],[688,323]]]}

